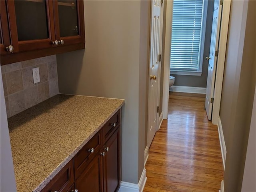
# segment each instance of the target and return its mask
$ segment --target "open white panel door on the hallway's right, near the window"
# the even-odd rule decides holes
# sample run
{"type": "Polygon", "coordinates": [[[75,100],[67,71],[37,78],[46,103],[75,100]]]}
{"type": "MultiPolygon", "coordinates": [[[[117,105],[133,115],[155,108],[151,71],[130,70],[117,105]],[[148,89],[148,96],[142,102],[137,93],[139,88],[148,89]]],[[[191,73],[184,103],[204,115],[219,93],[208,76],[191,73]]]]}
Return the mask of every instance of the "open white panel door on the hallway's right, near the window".
{"type": "Polygon", "coordinates": [[[206,60],[209,60],[209,64],[208,64],[208,77],[207,77],[207,86],[206,86],[205,109],[206,109],[206,113],[209,120],[212,119],[211,98],[213,98],[213,93],[214,93],[215,72],[216,72],[216,64],[217,64],[217,56],[215,55],[215,52],[218,50],[221,9],[222,9],[222,5],[220,5],[220,0],[214,0],[210,54],[209,54],[209,57],[206,57],[206,60]]]}

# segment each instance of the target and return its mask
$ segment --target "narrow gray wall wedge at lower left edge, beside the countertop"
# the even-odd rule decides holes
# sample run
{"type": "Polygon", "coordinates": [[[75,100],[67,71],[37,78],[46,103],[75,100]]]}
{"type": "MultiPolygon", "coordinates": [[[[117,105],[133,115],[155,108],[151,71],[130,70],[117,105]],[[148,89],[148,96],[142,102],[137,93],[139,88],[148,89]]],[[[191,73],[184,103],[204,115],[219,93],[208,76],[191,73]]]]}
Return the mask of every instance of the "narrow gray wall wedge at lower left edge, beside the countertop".
{"type": "Polygon", "coordinates": [[[10,144],[9,129],[7,123],[7,114],[4,100],[4,89],[2,84],[2,75],[0,73],[0,191],[14,192],[16,191],[16,182],[14,178],[14,168],[12,162],[12,151],[10,144]]]}

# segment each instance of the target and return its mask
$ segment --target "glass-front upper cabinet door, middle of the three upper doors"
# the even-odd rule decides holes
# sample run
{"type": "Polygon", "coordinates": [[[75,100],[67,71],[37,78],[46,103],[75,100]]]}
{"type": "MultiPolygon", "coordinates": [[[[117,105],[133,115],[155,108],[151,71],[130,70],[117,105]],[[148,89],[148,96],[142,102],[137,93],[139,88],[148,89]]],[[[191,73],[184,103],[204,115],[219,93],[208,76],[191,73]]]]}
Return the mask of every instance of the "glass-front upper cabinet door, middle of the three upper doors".
{"type": "Polygon", "coordinates": [[[14,53],[56,46],[52,0],[7,0],[6,4],[14,53]]]}

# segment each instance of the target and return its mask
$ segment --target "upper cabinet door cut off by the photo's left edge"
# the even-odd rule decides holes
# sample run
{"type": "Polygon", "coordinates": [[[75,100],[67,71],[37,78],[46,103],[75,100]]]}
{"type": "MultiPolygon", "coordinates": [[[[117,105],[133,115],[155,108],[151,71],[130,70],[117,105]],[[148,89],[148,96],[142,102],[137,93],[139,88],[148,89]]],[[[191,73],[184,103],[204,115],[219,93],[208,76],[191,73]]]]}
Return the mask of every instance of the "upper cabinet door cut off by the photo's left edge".
{"type": "Polygon", "coordinates": [[[11,45],[10,42],[10,31],[8,26],[8,18],[6,11],[6,1],[0,1],[0,52],[1,55],[10,54],[11,52],[6,50],[7,46],[11,45]]]}

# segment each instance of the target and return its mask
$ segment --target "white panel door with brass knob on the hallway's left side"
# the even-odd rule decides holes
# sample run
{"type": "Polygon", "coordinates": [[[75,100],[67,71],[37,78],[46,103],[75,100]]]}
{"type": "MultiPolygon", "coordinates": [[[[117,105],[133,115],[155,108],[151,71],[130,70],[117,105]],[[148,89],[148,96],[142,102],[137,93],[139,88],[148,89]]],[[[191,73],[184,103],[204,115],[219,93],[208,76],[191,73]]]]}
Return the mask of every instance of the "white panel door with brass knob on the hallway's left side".
{"type": "Polygon", "coordinates": [[[161,0],[152,1],[151,14],[151,35],[150,35],[150,69],[149,69],[149,90],[148,90],[148,147],[152,143],[154,135],[157,131],[158,121],[158,66],[161,32],[161,0]]]}

